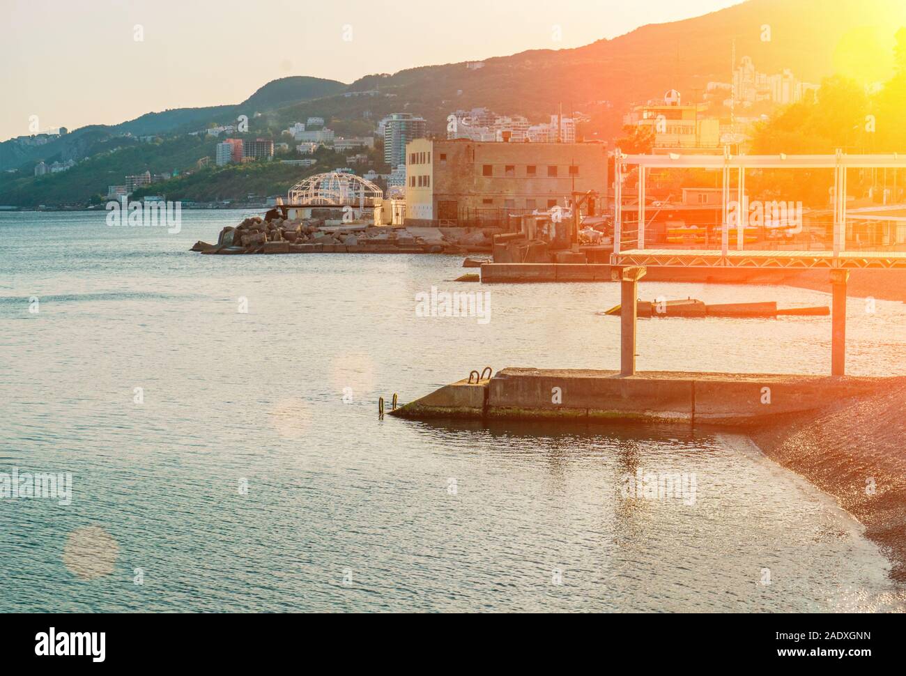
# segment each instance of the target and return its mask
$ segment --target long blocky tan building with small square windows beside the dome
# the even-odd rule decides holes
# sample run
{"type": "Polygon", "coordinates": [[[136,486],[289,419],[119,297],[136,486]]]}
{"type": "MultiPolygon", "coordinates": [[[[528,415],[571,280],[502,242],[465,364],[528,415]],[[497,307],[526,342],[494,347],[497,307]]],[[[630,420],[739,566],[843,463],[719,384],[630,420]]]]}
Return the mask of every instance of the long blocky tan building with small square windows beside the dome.
{"type": "Polygon", "coordinates": [[[567,207],[573,192],[607,195],[603,143],[411,141],[406,147],[406,220],[473,222],[482,212],[567,207]]]}

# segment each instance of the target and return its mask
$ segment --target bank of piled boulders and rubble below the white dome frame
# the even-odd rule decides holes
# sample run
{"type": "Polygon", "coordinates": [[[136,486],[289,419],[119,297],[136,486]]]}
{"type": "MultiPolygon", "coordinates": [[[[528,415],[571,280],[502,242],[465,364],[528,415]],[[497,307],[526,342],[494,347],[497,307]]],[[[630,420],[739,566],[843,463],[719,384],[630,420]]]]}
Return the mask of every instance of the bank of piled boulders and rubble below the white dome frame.
{"type": "Polygon", "coordinates": [[[470,254],[487,253],[493,233],[467,228],[391,227],[321,219],[288,219],[272,212],[225,227],[217,244],[197,242],[202,254],[470,254]]]}

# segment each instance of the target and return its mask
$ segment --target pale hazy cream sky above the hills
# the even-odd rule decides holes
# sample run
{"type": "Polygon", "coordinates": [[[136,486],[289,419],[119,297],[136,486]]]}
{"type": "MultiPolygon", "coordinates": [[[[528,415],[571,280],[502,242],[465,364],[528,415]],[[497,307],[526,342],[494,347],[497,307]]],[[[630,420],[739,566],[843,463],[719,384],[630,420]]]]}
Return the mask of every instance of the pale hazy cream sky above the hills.
{"type": "Polygon", "coordinates": [[[116,124],[149,111],[238,103],[286,75],[352,82],[372,72],[577,47],[736,4],[0,0],[0,140],[30,133],[32,115],[41,130],[116,124]]]}

